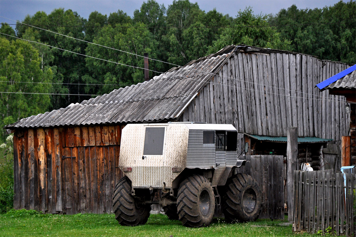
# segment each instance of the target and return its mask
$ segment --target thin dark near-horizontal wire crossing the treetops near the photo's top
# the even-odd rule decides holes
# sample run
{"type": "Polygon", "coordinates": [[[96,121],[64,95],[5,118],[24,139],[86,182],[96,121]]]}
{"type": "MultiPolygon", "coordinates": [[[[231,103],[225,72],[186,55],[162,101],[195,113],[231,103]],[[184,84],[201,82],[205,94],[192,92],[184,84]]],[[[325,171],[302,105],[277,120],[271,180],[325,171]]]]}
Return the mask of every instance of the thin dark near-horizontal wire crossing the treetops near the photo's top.
{"type": "MultiPolygon", "coordinates": [[[[2,17],[2,16],[1,16],[2,17]]],[[[6,18],[6,17],[4,17],[6,18]]],[[[7,18],[6,18],[7,19],[7,18]]],[[[9,19],[10,20],[10,19],[9,19]]],[[[313,26],[313,25],[339,25],[339,24],[353,24],[354,22],[329,22],[329,23],[308,23],[308,24],[288,24],[288,25],[252,25],[252,26],[61,26],[61,25],[31,25],[20,22],[24,26],[46,26],[46,27],[82,27],[82,28],[261,28],[261,27],[289,27],[289,26],[313,26]]],[[[9,24],[1,23],[2,25],[19,25],[19,24],[9,24]]]]}

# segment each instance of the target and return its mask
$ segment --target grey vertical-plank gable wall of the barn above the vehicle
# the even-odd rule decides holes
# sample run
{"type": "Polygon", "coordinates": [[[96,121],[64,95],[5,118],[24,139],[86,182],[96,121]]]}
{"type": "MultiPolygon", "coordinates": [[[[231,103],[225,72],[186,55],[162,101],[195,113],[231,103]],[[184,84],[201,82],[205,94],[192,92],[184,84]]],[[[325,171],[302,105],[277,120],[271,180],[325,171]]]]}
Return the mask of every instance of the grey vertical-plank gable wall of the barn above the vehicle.
{"type": "Polygon", "coordinates": [[[341,140],[348,134],[345,98],[315,85],[346,64],[286,53],[237,53],[185,109],[180,121],[233,124],[240,133],[341,140]],[[219,85],[220,84],[220,85],[219,85]],[[341,99],[341,101],[339,101],[341,99]]]}

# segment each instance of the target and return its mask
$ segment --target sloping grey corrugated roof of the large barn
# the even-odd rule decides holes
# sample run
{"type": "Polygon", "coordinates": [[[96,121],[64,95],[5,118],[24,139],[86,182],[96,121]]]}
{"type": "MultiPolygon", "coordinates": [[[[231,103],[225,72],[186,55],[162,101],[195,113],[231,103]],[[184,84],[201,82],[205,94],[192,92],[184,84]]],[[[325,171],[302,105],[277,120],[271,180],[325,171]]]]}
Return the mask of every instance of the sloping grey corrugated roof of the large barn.
{"type": "Polygon", "coordinates": [[[179,117],[197,92],[232,54],[234,45],[137,85],[82,103],[23,118],[4,128],[36,128],[168,120],[179,117]]]}

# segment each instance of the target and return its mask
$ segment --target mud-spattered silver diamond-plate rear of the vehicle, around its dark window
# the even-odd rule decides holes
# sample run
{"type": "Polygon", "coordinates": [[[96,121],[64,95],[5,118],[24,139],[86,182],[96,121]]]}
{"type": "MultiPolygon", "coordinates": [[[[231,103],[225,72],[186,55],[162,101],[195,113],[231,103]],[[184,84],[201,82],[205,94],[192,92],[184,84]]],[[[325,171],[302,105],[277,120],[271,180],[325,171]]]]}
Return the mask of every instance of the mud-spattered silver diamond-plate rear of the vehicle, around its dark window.
{"type": "Polygon", "coordinates": [[[132,187],[162,188],[172,187],[179,173],[173,167],[185,167],[189,130],[186,126],[169,124],[128,124],[122,129],[119,167],[131,167],[125,172],[132,181],[132,187]],[[162,155],[145,155],[142,159],[146,127],[164,127],[164,147],[162,155]]]}

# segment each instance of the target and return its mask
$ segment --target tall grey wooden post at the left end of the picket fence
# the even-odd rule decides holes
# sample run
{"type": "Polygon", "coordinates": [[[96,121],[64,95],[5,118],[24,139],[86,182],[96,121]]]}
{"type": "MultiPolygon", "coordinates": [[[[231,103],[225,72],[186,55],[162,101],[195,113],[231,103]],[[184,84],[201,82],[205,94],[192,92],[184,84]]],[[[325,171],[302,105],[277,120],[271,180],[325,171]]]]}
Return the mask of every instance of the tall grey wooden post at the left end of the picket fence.
{"type": "Polygon", "coordinates": [[[298,130],[295,127],[287,131],[287,199],[288,221],[294,216],[294,171],[297,170],[298,130]]]}

